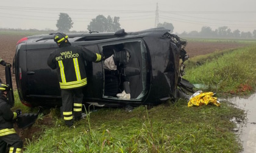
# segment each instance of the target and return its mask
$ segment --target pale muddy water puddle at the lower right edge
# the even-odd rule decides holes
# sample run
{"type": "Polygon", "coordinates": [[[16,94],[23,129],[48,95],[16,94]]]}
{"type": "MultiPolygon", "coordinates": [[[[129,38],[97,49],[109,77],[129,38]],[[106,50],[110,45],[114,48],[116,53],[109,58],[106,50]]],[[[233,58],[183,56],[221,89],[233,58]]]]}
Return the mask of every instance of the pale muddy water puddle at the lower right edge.
{"type": "Polygon", "coordinates": [[[230,98],[229,101],[247,113],[247,120],[244,123],[232,119],[238,125],[234,131],[238,132],[243,142],[243,152],[256,152],[256,93],[248,98],[230,98]]]}

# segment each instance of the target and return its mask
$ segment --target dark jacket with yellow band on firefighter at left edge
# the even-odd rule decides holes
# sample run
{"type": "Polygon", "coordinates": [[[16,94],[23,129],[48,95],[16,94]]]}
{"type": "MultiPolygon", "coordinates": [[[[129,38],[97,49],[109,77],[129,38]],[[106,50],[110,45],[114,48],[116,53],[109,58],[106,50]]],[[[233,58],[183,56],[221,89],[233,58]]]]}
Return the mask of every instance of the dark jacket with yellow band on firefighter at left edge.
{"type": "Polygon", "coordinates": [[[16,112],[12,112],[7,99],[0,95],[0,137],[9,134],[15,134],[13,129],[13,120],[16,119],[16,112]]]}

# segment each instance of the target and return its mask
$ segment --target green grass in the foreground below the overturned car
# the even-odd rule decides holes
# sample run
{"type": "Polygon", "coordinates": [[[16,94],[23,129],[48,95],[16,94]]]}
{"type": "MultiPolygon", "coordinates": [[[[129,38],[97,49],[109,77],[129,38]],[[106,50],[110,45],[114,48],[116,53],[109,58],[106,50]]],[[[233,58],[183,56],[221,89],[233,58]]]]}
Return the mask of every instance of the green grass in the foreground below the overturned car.
{"type": "Polygon", "coordinates": [[[24,152],[238,152],[229,121],[234,116],[243,117],[243,111],[228,103],[187,107],[184,100],[132,112],[98,109],[73,128],[55,120],[24,152]]]}

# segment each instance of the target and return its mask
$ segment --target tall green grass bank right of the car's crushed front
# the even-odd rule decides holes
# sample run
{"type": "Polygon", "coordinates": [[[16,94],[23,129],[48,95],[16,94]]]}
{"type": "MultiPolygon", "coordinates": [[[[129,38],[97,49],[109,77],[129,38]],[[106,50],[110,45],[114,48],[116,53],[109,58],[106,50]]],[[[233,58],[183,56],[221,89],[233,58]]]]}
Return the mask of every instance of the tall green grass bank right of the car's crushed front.
{"type": "Polygon", "coordinates": [[[216,52],[188,61],[185,79],[205,84],[213,92],[239,92],[255,89],[256,46],[216,52]]]}

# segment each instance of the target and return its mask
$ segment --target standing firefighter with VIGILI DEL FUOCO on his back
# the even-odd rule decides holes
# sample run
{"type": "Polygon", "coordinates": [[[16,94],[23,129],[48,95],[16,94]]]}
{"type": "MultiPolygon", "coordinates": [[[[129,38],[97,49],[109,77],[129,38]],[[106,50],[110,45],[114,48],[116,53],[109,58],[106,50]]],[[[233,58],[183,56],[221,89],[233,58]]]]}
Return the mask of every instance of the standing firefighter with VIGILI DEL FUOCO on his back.
{"type": "Polygon", "coordinates": [[[48,66],[57,69],[62,90],[62,107],[65,124],[73,126],[74,120],[82,117],[82,87],[87,85],[85,61],[99,62],[104,55],[93,53],[84,47],[71,46],[65,33],[56,33],[54,41],[59,49],[49,55],[48,66]]]}

